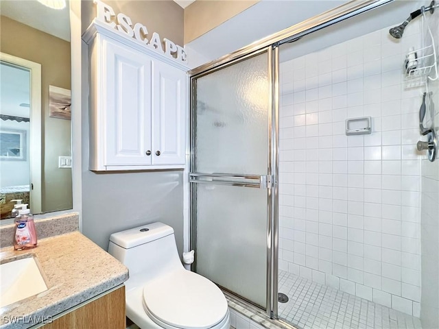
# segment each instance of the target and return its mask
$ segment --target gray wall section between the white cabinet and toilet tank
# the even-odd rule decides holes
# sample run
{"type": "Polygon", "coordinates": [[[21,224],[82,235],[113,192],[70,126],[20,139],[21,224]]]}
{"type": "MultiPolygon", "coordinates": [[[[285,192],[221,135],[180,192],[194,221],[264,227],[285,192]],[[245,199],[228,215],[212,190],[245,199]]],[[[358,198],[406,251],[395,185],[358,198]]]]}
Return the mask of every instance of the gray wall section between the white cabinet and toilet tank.
{"type": "Polygon", "coordinates": [[[182,191],[182,171],[93,173],[84,167],[82,233],[107,249],[111,233],[161,221],[174,228],[181,255],[182,191]]]}

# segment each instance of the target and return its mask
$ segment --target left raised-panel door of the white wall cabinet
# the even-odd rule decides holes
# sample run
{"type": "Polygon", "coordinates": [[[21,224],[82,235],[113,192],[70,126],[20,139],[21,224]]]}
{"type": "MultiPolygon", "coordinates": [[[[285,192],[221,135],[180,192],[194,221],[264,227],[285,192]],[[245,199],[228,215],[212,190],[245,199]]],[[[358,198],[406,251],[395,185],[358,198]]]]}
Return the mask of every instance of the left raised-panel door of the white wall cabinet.
{"type": "MultiPolygon", "coordinates": [[[[104,40],[107,166],[151,164],[151,63],[104,40]]],[[[101,92],[102,92],[101,91],[101,92]]],[[[104,145],[102,145],[104,147],[104,145]]]]}

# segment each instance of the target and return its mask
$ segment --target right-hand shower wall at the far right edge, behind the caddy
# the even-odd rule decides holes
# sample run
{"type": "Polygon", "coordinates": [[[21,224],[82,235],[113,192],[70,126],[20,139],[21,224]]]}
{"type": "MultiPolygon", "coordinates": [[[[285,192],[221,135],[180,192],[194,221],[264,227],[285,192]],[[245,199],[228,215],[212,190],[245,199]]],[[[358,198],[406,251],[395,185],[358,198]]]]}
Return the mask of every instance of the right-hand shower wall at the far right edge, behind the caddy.
{"type": "MultiPolygon", "coordinates": [[[[439,15],[427,15],[427,23],[436,40],[436,52],[439,53],[439,15]]],[[[429,84],[429,91],[433,93],[432,122],[439,127],[439,81],[429,84]]],[[[425,138],[424,138],[425,139],[425,138]]],[[[439,328],[439,160],[422,161],[422,211],[421,211],[421,250],[422,250],[422,294],[420,300],[420,319],[423,328],[439,328]]]]}

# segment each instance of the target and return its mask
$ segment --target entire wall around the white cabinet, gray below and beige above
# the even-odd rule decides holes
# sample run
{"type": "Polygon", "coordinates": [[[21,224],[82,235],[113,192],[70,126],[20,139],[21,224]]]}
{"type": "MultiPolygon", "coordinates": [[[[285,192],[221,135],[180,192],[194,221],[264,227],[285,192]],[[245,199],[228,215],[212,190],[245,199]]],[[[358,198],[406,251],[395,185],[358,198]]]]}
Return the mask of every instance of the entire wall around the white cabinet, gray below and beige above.
{"type": "MultiPolygon", "coordinates": [[[[113,5],[111,1],[106,3],[113,5]]],[[[183,39],[182,8],[173,1],[119,1],[121,11],[134,21],[147,25],[161,38],[174,42],[183,39]],[[123,4],[123,5],[122,5],[123,4]],[[158,10],[154,10],[154,6],[158,10]],[[166,6],[169,14],[160,14],[166,6]],[[181,16],[168,36],[169,15],[181,16]],[[139,19],[135,19],[139,17],[139,19]],[[157,17],[161,17],[158,24],[157,17]],[[157,22],[150,27],[148,22],[157,22]],[[163,33],[162,33],[163,32],[163,33]]],[[[82,25],[93,19],[91,1],[82,3],[82,25]]],[[[116,12],[119,8],[113,7],[116,12]]],[[[182,171],[136,171],[94,173],[88,171],[88,55],[82,43],[82,233],[103,249],[108,248],[111,233],[161,221],[172,226],[176,234],[178,252],[183,248],[183,184],[182,171]]]]}

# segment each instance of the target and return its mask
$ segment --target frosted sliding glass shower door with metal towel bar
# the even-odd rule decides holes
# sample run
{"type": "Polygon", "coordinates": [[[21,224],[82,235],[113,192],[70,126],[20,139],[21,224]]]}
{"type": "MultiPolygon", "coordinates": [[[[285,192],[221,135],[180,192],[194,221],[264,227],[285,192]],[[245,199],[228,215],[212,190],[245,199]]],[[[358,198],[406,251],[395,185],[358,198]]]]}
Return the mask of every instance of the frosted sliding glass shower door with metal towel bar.
{"type": "Polygon", "coordinates": [[[269,307],[271,54],[192,78],[193,269],[269,307]]]}

